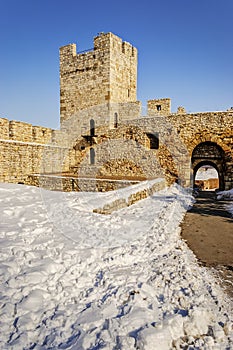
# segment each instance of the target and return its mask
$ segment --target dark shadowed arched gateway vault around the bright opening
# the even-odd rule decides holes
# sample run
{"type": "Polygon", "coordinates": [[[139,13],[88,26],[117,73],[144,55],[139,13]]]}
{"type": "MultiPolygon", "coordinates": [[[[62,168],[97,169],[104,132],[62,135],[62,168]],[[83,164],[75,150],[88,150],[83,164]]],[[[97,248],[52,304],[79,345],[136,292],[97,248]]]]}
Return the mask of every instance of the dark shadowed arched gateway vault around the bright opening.
{"type": "Polygon", "coordinates": [[[197,145],[192,153],[192,168],[193,179],[198,169],[204,165],[211,165],[218,172],[219,177],[219,189],[225,189],[224,172],[225,172],[225,152],[215,142],[202,142],[197,145]]]}

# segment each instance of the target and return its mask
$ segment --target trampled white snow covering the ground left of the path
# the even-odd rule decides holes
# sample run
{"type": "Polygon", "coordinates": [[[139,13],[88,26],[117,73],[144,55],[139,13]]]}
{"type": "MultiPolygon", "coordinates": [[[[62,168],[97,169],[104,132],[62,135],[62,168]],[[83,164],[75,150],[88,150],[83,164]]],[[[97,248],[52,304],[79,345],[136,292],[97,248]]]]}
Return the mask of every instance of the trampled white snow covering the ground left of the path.
{"type": "Polygon", "coordinates": [[[232,304],[180,239],[193,198],[92,212],[123,193],[0,185],[0,349],[233,348],[232,304]]]}

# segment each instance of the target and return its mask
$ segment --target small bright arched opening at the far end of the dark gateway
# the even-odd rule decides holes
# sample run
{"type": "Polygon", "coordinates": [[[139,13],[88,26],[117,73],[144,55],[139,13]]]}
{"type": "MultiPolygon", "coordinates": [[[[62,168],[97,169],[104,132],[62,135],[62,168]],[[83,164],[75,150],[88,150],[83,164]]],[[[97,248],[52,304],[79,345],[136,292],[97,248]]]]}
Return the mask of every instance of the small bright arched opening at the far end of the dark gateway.
{"type": "Polygon", "coordinates": [[[217,169],[210,164],[200,166],[195,174],[194,186],[202,191],[218,189],[219,174],[217,169]]]}

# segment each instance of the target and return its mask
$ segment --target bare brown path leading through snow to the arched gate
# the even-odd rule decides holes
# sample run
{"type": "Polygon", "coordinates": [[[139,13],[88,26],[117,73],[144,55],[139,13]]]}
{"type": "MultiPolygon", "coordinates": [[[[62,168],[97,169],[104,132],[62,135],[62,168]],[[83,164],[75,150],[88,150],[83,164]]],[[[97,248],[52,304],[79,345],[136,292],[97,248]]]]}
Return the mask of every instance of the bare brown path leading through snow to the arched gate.
{"type": "Polygon", "coordinates": [[[226,205],[229,201],[216,201],[214,192],[200,192],[181,224],[181,235],[202,264],[215,267],[233,297],[233,219],[226,205]]]}

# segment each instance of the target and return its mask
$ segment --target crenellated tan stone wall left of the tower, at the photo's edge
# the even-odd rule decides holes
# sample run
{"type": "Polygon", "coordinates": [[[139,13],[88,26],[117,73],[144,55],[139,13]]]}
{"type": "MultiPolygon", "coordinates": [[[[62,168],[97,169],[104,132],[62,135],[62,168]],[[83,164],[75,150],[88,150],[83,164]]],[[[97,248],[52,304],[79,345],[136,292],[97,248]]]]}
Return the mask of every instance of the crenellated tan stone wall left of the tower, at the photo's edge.
{"type": "Polygon", "coordinates": [[[0,118],[0,181],[28,183],[29,174],[69,171],[75,151],[66,143],[59,130],[0,118]]]}

